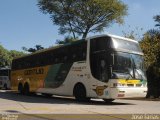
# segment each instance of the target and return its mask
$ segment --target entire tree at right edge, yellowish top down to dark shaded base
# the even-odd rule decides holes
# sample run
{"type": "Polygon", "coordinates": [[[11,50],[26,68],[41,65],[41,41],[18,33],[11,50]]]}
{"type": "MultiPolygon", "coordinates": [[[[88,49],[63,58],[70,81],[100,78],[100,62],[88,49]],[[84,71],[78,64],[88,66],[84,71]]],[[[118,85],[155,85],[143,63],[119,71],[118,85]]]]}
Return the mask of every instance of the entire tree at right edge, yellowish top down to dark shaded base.
{"type": "MultiPolygon", "coordinates": [[[[155,26],[160,26],[160,15],[154,17],[155,26]]],[[[141,48],[144,53],[147,68],[148,92],[146,97],[160,97],[160,29],[148,30],[142,41],[141,48]]]]}

